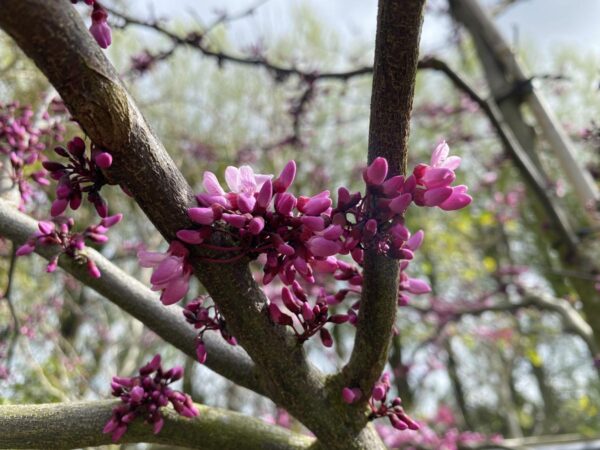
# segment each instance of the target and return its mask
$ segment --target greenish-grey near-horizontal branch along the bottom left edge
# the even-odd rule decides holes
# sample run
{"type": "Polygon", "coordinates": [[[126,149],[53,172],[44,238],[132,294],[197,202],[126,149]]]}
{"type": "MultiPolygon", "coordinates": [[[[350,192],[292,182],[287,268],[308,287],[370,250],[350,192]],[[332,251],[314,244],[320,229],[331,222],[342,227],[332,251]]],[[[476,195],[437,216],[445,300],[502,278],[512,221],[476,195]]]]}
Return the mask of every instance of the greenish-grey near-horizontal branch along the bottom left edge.
{"type": "MultiPolygon", "coordinates": [[[[111,444],[102,433],[118,400],[42,405],[0,406],[0,448],[80,448],[111,444]]],[[[164,408],[165,425],[159,434],[140,419],[120,443],[157,443],[169,446],[223,450],[303,449],[313,439],[227,410],[196,405],[200,414],[188,419],[164,408]]]]}

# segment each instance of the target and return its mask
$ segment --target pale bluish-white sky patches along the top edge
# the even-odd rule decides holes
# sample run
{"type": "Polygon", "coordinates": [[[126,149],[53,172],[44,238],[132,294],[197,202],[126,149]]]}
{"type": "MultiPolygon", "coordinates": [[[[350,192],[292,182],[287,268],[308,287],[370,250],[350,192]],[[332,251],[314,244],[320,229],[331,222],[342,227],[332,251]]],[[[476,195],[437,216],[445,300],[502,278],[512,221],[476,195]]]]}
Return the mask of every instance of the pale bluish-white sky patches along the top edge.
{"type": "MultiPolygon", "coordinates": [[[[495,3],[484,0],[486,4],[495,3]]],[[[159,17],[174,17],[193,11],[210,22],[215,11],[239,12],[260,0],[131,0],[136,15],[153,11],[159,17]]],[[[441,0],[431,4],[444,4],[441,0]]],[[[374,39],[376,0],[266,0],[254,16],[232,27],[233,37],[249,44],[257,37],[270,36],[289,29],[293,11],[309,5],[323,21],[330,24],[342,40],[374,39]],[[257,36],[258,35],[258,36],[257,36]]],[[[600,54],[600,0],[520,0],[497,18],[500,29],[516,48],[526,46],[546,52],[557,46],[577,45],[600,54]]],[[[444,48],[449,22],[428,17],[423,28],[422,46],[428,53],[444,48]]]]}

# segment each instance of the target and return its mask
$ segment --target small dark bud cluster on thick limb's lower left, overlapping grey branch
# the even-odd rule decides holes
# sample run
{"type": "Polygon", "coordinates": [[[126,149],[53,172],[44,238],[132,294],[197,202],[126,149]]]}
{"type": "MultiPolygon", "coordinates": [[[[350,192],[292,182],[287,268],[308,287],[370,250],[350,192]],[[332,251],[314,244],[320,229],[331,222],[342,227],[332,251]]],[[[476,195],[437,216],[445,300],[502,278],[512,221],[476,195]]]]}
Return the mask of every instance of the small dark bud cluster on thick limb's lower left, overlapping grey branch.
{"type": "Polygon", "coordinates": [[[219,309],[215,305],[205,307],[203,305],[205,300],[206,297],[198,297],[196,300],[188,303],[183,309],[185,319],[194,325],[194,328],[200,330],[196,342],[196,357],[200,364],[206,362],[206,346],[204,345],[203,340],[206,331],[218,330],[221,333],[221,336],[223,336],[223,339],[230,345],[237,345],[235,337],[227,331],[225,319],[219,312],[219,309]]]}

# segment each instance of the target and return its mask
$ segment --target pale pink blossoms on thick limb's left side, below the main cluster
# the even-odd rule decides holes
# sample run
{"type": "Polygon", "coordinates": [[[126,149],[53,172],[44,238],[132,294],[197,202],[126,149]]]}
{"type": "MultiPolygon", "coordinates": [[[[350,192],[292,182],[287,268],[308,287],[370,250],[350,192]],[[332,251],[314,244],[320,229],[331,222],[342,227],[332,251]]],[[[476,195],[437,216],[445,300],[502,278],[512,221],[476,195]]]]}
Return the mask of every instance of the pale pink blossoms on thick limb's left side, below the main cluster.
{"type": "Polygon", "coordinates": [[[187,261],[189,251],[181,242],[173,241],[165,253],[140,250],[142,267],[154,269],[150,282],[153,291],[162,291],[160,300],[171,305],[181,300],[188,291],[192,266],[187,261]]]}

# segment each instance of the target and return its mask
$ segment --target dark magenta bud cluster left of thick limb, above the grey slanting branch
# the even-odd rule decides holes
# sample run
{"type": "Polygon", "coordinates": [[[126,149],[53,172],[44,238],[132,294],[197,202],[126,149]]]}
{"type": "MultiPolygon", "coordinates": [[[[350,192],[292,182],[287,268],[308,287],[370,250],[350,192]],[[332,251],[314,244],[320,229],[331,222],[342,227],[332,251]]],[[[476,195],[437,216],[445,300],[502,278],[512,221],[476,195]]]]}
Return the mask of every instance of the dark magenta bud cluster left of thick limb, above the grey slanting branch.
{"type": "Polygon", "coordinates": [[[56,147],[54,151],[69,160],[68,164],[45,161],[44,168],[54,180],[58,180],[56,199],[52,202],[50,214],[61,215],[67,206],[76,210],[81,205],[82,196],[87,194],[100,217],[108,215],[108,204],[100,195],[102,186],[108,183],[101,169],[112,165],[110,153],[92,144],[91,155],[85,155],[85,142],[76,137],[68,142],[67,148],[56,147]]]}

